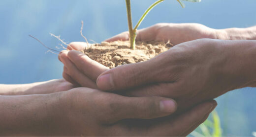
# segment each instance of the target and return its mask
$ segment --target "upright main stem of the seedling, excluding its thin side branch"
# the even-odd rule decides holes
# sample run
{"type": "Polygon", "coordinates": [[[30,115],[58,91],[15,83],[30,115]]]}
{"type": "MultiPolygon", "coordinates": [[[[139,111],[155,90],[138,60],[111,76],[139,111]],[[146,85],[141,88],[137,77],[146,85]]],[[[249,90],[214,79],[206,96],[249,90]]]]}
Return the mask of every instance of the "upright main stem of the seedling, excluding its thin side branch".
{"type": "Polygon", "coordinates": [[[127,18],[128,18],[129,34],[130,34],[130,48],[135,49],[136,31],[134,31],[132,29],[130,0],[126,0],[126,8],[127,8],[127,18]]]}

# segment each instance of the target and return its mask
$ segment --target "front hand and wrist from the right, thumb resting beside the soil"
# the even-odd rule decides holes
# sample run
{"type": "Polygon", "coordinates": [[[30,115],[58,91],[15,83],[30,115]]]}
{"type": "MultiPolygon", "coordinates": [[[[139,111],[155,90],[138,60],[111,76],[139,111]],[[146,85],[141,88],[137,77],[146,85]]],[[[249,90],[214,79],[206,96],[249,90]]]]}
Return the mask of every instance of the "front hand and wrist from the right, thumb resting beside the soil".
{"type": "Polygon", "coordinates": [[[96,84],[100,90],[129,96],[173,98],[178,110],[186,110],[227,91],[253,86],[255,47],[255,41],[199,39],[149,61],[104,71],[96,84]]]}

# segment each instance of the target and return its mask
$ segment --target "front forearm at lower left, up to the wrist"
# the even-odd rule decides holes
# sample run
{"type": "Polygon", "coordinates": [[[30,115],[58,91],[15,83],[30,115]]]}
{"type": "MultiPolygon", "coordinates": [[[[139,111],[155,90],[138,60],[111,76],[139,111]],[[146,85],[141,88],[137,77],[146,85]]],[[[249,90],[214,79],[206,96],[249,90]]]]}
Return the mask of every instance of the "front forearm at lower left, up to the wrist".
{"type": "Polygon", "coordinates": [[[62,94],[0,96],[0,136],[49,136],[63,120],[62,94]]]}

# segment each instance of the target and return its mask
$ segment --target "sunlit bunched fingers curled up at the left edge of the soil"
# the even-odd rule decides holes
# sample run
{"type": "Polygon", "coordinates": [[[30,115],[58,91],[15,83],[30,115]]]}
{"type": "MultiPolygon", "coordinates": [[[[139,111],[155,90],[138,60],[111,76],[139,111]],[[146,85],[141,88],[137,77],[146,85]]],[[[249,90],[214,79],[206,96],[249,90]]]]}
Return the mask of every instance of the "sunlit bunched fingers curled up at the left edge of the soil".
{"type": "Polygon", "coordinates": [[[90,59],[80,52],[87,46],[83,42],[72,42],[59,55],[59,60],[64,64],[63,77],[66,81],[81,87],[98,89],[96,79],[102,72],[109,68],[90,59]]]}

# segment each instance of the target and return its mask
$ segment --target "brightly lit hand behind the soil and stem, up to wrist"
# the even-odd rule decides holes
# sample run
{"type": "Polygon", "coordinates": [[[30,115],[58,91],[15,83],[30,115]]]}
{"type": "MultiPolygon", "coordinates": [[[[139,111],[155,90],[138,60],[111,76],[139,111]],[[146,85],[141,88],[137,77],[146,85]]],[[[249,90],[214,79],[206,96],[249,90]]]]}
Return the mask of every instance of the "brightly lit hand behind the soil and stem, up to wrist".
{"type": "MultiPolygon", "coordinates": [[[[224,30],[216,30],[198,23],[158,23],[148,28],[137,30],[136,41],[164,41],[177,45],[196,39],[224,39],[224,30]]],[[[128,41],[129,33],[123,32],[106,42],[128,41]]]]}

